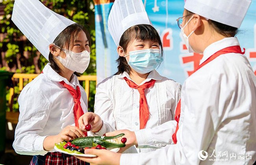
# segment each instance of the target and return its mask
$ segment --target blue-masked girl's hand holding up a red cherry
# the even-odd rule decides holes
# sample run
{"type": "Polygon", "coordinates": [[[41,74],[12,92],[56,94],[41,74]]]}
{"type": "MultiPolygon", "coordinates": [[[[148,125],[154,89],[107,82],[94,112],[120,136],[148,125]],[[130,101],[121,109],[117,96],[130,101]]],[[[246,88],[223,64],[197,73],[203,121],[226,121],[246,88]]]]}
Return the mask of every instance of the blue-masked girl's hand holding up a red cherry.
{"type": "Polygon", "coordinates": [[[85,126],[90,124],[92,132],[98,132],[103,124],[100,116],[96,115],[95,113],[92,113],[92,112],[87,112],[87,113],[83,114],[78,119],[78,123],[79,123],[80,130],[83,130],[83,131],[87,131],[87,130],[85,130],[85,126]]]}

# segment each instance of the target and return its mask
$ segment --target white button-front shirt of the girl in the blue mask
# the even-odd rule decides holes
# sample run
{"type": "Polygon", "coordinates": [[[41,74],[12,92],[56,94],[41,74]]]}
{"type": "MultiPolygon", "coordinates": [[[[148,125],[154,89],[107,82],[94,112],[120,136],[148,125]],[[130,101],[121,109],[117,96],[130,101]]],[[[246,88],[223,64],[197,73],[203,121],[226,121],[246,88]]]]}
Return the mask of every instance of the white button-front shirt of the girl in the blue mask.
{"type": "Polygon", "coordinates": [[[156,82],[148,89],[145,89],[150,118],[145,129],[140,130],[140,94],[137,89],[129,87],[124,77],[131,80],[128,73],[124,72],[103,80],[96,88],[94,109],[95,113],[104,122],[102,129],[96,135],[122,129],[134,131],[139,146],[138,148],[135,148],[135,146],[130,147],[126,150],[128,153],[149,152],[171,143],[171,139],[168,137],[173,134],[176,128],[174,112],[180,99],[181,85],[160,76],[156,70],[148,74],[147,79],[139,85],[151,79],[156,80],[156,82]],[[151,129],[167,121],[172,121],[173,124],[168,124],[159,130],[151,129]],[[159,133],[162,133],[163,136],[158,137],[159,133]]]}

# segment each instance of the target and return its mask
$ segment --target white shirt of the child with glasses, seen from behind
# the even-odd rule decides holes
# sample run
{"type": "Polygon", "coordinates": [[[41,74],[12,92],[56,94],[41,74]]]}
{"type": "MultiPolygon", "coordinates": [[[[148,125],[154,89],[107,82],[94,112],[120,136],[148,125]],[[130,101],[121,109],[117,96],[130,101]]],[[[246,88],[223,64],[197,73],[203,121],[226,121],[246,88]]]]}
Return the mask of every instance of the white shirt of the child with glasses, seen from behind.
{"type": "MultiPolygon", "coordinates": [[[[239,43],[234,37],[209,45],[201,63],[235,45],[239,43]]],[[[184,82],[181,100],[177,144],[147,154],[122,154],[121,165],[251,165],[256,161],[256,76],[244,55],[223,54],[204,65],[184,82]],[[201,150],[208,152],[206,160],[198,159],[201,150]],[[228,158],[222,156],[224,152],[228,158]],[[236,159],[230,158],[232,154],[236,159]],[[238,159],[239,154],[244,159],[238,159]],[[211,161],[221,158],[228,160],[211,161]]]]}

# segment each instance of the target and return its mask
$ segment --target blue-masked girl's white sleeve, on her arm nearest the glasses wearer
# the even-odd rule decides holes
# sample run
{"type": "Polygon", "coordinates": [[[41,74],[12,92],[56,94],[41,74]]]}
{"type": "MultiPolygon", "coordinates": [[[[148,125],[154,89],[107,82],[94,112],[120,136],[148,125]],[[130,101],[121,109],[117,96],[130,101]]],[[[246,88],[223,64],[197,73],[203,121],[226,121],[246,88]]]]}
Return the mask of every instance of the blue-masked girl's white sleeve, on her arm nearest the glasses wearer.
{"type": "MultiPolygon", "coordinates": [[[[171,105],[172,121],[165,122],[154,128],[146,128],[135,131],[137,139],[137,148],[160,148],[169,144],[173,144],[172,135],[176,130],[177,122],[174,120],[175,109],[180,100],[181,85],[178,83],[176,90],[170,91],[173,93],[173,102],[171,105]]],[[[170,89],[172,90],[172,89],[170,89]]]]}

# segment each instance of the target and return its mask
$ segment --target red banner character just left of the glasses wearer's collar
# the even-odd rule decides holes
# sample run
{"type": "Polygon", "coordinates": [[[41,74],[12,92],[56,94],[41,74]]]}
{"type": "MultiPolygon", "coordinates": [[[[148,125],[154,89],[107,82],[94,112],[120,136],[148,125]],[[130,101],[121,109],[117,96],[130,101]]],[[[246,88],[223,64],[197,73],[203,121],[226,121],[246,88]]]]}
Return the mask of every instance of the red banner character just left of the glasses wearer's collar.
{"type": "MultiPolygon", "coordinates": [[[[182,44],[182,50],[187,50],[185,44],[182,44]]],[[[203,55],[199,54],[199,53],[193,53],[192,56],[184,56],[184,57],[182,57],[182,63],[183,64],[190,63],[190,62],[194,63],[193,70],[188,70],[187,71],[188,76],[190,76],[193,72],[195,72],[195,70],[197,69],[197,67],[200,64],[200,60],[202,59],[202,57],[203,57],[203,55]]]]}

